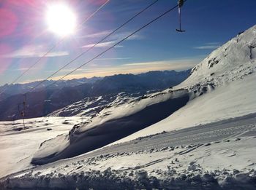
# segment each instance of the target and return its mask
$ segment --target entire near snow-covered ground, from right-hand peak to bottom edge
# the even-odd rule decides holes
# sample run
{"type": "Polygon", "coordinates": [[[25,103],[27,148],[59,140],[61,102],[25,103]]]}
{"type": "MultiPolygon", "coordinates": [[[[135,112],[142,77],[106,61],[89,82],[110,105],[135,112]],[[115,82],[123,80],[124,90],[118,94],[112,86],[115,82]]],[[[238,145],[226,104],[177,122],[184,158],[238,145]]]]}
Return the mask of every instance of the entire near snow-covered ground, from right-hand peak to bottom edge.
{"type": "MultiPolygon", "coordinates": [[[[23,157],[22,143],[14,144],[14,134],[10,135],[12,139],[4,139],[8,135],[3,135],[1,143],[7,149],[0,153],[9,154],[9,159],[15,161],[10,164],[7,159],[0,160],[9,165],[1,175],[13,173],[3,178],[0,186],[256,189],[256,121],[252,114],[256,113],[255,47],[256,25],[212,52],[192,69],[186,81],[173,89],[104,108],[64,135],[56,132],[56,138],[46,138],[46,132],[52,130],[40,130],[44,139],[37,139],[40,132],[36,134],[35,130],[36,143],[31,147],[27,143],[32,133],[17,132],[17,137],[27,140],[24,146],[30,148],[25,150],[32,162],[44,164],[61,159],[57,162],[14,173],[31,165],[24,159],[15,166],[14,162],[23,157]],[[180,105],[173,109],[174,113],[167,113],[175,105],[174,100],[180,105]],[[156,119],[161,113],[165,116],[156,119]],[[136,129],[131,130],[134,126],[136,129]],[[135,133],[129,135],[132,132],[135,133]],[[119,134],[129,136],[116,141],[122,136],[119,134]],[[47,141],[42,143],[43,140],[47,141]],[[108,143],[113,145],[105,146],[108,143]],[[91,151],[101,146],[105,148],[91,151]],[[15,151],[18,154],[10,154],[15,151]],[[88,151],[91,152],[83,154],[88,151]],[[18,159],[14,158],[16,155],[18,159]]],[[[1,127],[1,133],[7,132],[5,128],[1,127]]]]}

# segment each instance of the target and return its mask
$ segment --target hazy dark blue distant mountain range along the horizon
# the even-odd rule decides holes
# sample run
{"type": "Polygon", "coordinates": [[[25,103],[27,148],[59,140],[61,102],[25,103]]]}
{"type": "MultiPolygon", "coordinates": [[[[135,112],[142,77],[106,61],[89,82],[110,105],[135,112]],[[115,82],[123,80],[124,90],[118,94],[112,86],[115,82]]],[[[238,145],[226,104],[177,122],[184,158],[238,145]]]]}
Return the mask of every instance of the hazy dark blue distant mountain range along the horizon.
{"type": "MultiPolygon", "coordinates": [[[[103,79],[76,86],[62,87],[61,89],[47,88],[36,92],[29,92],[26,95],[25,117],[34,118],[46,116],[53,111],[83,100],[83,98],[88,98],[87,100],[89,101],[95,101],[99,96],[107,95],[105,98],[108,100],[110,96],[116,99],[116,96],[118,96],[120,92],[127,92],[127,95],[133,97],[146,94],[148,90],[162,90],[183,82],[184,79],[187,79],[189,76],[189,72],[190,70],[180,72],[151,71],[138,75],[118,74],[105,76],[103,79]]],[[[12,95],[0,101],[0,120],[21,119],[18,104],[22,103],[23,100],[23,94],[19,94],[12,95]]],[[[86,101],[86,99],[83,100],[83,102],[84,101],[86,101]]],[[[80,105],[80,103],[78,103],[78,105],[80,105]]],[[[93,104],[93,106],[97,105],[93,104]]],[[[75,112],[65,111],[65,113],[64,116],[73,116],[75,112]]]]}

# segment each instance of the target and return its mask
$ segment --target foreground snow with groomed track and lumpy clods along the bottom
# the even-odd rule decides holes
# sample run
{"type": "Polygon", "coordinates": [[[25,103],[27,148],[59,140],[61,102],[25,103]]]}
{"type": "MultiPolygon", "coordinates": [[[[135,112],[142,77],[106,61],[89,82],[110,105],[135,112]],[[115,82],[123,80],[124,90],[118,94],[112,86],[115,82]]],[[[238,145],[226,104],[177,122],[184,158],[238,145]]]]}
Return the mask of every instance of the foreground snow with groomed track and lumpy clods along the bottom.
{"type": "Polygon", "coordinates": [[[256,114],[249,114],[106,146],[78,157],[12,174],[7,176],[9,182],[5,181],[4,185],[28,189],[34,186],[70,188],[61,183],[75,183],[74,186],[80,189],[104,189],[103,184],[110,189],[132,189],[132,186],[149,189],[168,189],[172,186],[184,186],[186,189],[207,189],[207,186],[236,189],[236,186],[241,188],[244,184],[239,180],[241,175],[243,180],[250,182],[247,189],[253,189],[256,184],[255,143],[256,114]],[[226,178],[227,174],[230,179],[226,178]],[[205,180],[206,176],[211,180],[205,180]],[[172,182],[166,181],[167,178],[172,179],[172,182]],[[195,178],[197,183],[192,183],[195,178]],[[113,179],[122,179],[119,181],[121,186],[115,186],[113,179]],[[102,186],[97,181],[101,181],[102,186]],[[201,183],[203,181],[205,183],[201,183]]]}

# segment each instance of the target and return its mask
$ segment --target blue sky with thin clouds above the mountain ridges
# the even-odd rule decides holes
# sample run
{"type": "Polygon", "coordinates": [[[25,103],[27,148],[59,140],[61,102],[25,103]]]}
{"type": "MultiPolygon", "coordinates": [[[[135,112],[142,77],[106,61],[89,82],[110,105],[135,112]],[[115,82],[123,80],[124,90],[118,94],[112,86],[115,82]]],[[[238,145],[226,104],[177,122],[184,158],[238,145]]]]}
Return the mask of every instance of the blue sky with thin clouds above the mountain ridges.
{"type": "MultiPolygon", "coordinates": [[[[12,82],[59,41],[60,37],[50,33],[45,23],[50,2],[53,1],[0,1],[0,84],[12,82]]],[[[69,4],[78,17],[78,23],[82,23],[104,0],[61,2],[69,4]]],[[[18,82],[45,79],[151,2],[110,0],[18,82]]],[[[159,0],[53,79],[59,79],[176,4],[176,0],[159,0]]],[[[238,32],[255,25],[255,7],[255,0],[188,0],[181,10],[185,33],[176,32],[176,9],[66,79],[192,68],[238,32]]]]}

